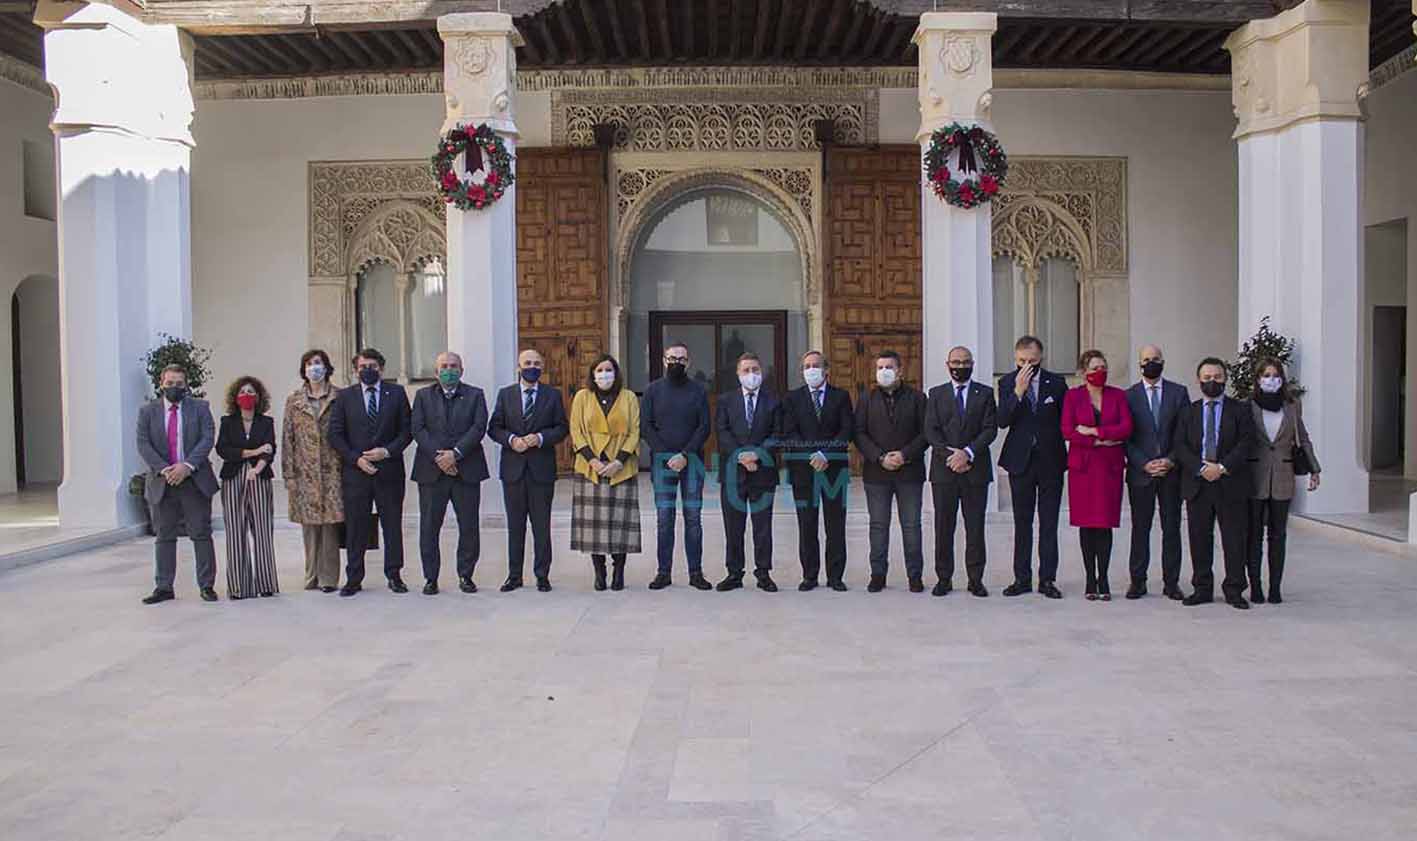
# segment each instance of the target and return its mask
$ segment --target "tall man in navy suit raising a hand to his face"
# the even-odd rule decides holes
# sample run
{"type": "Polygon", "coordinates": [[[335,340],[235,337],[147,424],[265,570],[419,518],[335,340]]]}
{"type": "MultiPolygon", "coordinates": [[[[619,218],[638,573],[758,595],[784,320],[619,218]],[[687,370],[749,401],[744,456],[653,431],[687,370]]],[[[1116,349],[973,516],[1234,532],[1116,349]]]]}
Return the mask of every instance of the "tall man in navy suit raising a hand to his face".
{"type": "Polygon", "coordinates": [[[1013,343],[1019,370],[999,378],[999,426],[1009,430],[999,466],[1009,473],[1013,500],[1013,583],[1005,596],[1033,589],[1033,511],[1039,513],[1039,592],[1061,599],[1058,572],[1058,510],[1063,507],[1063,396],[1067,382],[1043,368],[1043,343],[1023,336],[1013,343]]]}

